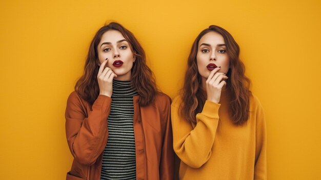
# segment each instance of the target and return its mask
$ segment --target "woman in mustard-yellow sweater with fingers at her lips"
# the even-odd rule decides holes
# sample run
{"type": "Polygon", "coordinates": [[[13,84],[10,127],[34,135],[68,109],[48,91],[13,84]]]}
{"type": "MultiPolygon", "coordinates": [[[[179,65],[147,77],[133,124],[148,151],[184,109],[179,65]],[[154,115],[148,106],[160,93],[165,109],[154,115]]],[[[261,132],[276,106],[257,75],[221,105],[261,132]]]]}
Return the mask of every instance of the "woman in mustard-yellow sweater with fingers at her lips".
{"type": "Polygon", "coordinates": [[[239,47],[225,29],[196,37],[171,105],[179,179],[266,179],[266,123],[239,47]]]}

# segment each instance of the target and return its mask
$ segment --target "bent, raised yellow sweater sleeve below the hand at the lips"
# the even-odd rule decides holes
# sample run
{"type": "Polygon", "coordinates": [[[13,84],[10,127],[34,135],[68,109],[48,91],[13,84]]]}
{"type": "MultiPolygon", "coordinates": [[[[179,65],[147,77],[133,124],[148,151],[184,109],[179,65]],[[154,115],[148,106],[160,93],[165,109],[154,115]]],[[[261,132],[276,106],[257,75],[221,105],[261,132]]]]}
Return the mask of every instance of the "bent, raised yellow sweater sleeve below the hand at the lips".
{"type": "Polygon", "coordinates": [[[196,115],[196,126],[179,116],[180,99],[175,98],[171,106],[173,148],[186,165],[199,168],[211,157],[220,104],[206,101],[201,113],[196,115]]]}

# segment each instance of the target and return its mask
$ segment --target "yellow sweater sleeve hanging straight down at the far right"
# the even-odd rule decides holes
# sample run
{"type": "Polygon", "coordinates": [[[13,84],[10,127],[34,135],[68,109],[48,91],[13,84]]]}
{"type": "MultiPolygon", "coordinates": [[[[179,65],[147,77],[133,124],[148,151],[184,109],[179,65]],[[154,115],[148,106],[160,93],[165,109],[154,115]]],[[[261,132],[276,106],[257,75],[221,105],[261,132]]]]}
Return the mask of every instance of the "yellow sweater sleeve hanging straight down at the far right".
{"type": "Polygon", "coordinates": [[[262,106],[258,103],[256,111],[256,137],[255,137],[255,166],[254,179],[267,179],[267,132],[265,114],[262,106]]]}

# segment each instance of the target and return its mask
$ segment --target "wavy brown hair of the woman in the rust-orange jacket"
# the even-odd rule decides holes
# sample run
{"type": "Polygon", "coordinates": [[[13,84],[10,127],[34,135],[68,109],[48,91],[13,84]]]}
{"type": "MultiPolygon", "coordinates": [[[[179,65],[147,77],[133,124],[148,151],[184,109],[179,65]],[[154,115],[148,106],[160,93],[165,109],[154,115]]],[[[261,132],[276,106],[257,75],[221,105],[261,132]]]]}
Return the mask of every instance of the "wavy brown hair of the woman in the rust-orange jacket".
{"type": "Polygon", "coordinates": [[[97,80],[97,73],[99,69],[99,59],[97,46],[101,42],[103,34],[109,30],[116,30],[123,34],[129,46],[136,57],[136,61],[131,69],[131,85],[140,95],[139,105],[147,106],[154,101],[154,97],[157,93],[155,84],[155,78],[152,71],[146,65],[146,55],[142,46],[138,43],[135,36],[126,28],[118,23],[110,23],[99,29],[91,41],[84,74],[78,79],[75,85],[75,91],[85,101],[91,105],[95,102],[99,95],[99,86],[97,80]]]}

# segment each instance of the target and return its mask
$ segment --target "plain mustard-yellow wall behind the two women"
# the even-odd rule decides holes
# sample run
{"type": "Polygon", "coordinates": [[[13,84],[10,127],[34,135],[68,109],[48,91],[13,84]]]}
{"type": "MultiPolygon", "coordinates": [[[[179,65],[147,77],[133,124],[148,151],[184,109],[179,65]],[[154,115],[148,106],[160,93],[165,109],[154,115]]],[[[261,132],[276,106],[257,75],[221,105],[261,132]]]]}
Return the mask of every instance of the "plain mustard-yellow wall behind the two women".
{"type": "Polygon", "coordinates": [[[212,24],[227,29],[266,111],[269,179],[321,179],[318,0],[2,0],[1,179],[65,179],[66,100],[108,20],[135,34],[172,98],[197,34],[212,24]]]}

